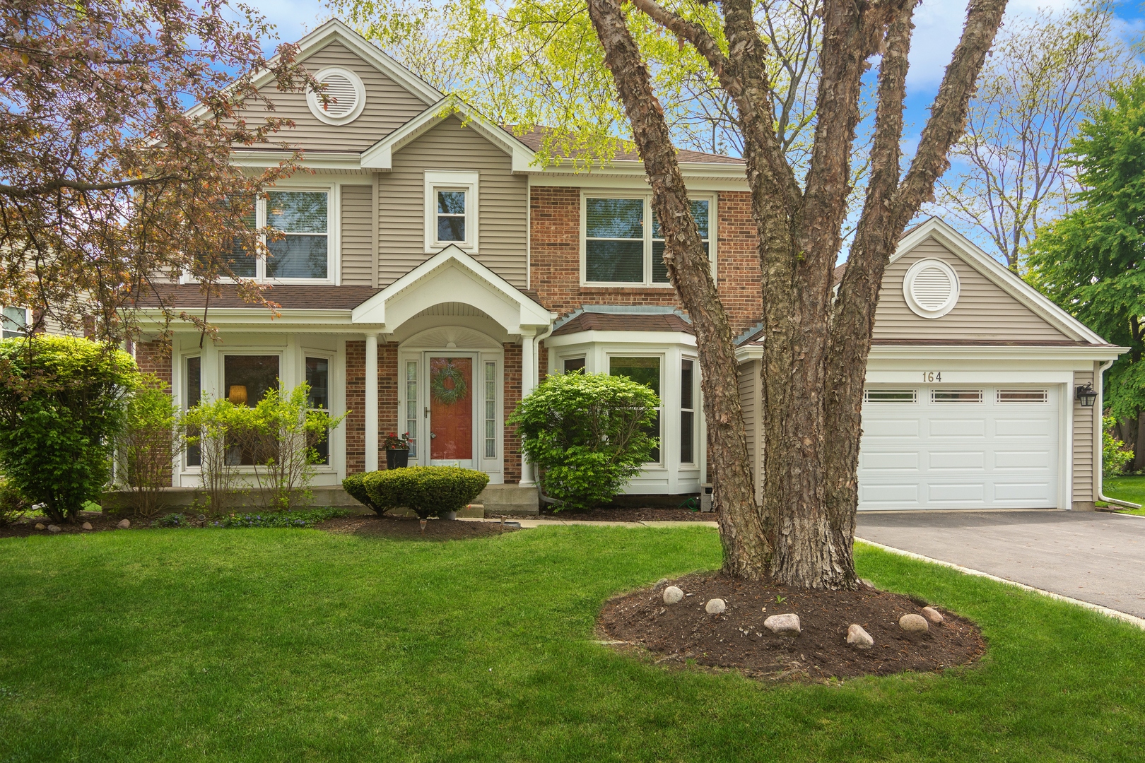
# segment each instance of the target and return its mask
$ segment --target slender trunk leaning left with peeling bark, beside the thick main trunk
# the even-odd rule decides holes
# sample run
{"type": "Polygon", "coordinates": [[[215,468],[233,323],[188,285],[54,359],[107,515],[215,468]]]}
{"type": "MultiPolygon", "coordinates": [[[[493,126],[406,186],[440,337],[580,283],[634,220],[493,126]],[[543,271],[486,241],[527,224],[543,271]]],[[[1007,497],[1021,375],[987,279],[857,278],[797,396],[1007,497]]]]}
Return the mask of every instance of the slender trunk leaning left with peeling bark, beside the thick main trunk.
{"type": "Polygon", "coordinates": [[[732,327],[692,215],[648,70],[617,0],[587,0],[589,15],[605,48],[605,62],[632,125],[653,191],[653,209],[664,235],[664,263],[696,332],[701,389],[712,463],[712,498],[719,508],[724,572],[749,579],[767,574],[771,542],[756,504],[748,443],[740,405],[739,369],[732,327]]]}

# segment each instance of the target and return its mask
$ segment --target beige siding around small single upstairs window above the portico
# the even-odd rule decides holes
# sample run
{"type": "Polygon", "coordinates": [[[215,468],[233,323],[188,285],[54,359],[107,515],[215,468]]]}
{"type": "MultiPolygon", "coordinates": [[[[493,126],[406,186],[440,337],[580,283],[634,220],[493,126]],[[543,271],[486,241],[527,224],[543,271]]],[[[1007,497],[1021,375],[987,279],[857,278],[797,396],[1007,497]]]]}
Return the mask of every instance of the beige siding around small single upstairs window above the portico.
{"type": "Polygon", "coordinates": [[[516,287],[527,281],[528,183],[512,160],[456,117],[394,153],[379,175],[378,285],[387,286],[429,256],[425,252],[425,170],[479,172],[477,261],[516,287]]]}

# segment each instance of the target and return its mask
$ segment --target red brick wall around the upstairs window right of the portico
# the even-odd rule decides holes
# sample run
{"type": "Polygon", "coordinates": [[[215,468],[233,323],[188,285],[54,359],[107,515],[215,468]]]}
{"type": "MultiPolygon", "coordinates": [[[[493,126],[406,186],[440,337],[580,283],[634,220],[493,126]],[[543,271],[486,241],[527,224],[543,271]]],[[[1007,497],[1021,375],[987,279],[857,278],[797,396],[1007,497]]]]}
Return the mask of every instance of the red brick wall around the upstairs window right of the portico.
{"type": "MultiPolygon", "coordinates": [[[[585,304],[679,307],[664,287],[581,285],[581,189],[534,186],[530,199],[530,285],[543,307],[566,316],[585,304]]],[[[759,321],[763,293],[751,194],[719,194],[716,273],[736,334],[759,321]]]]}

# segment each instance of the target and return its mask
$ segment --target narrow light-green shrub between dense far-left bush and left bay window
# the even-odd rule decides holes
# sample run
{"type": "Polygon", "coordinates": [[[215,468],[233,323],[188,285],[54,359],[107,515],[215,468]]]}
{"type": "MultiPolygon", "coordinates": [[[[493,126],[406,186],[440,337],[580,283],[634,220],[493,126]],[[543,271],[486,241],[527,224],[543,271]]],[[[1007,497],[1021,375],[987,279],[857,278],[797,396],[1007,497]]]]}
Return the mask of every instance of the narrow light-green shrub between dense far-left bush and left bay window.
{"type": "Polygon", "coordinates": [[[135,512],[150,517],[163,508],[164,487],[183,442],[179,405],[171,386],[145,374],[127,397],[124,429],[116,443],[116,482],[132,493],[135,512]]]}

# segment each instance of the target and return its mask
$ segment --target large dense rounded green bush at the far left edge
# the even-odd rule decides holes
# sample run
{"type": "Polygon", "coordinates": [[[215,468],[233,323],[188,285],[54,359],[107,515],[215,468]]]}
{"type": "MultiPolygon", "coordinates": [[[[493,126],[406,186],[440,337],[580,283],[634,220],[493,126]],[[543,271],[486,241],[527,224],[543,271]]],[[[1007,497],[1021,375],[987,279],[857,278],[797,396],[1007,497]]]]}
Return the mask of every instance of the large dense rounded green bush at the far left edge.
{"type": "Polygon", "coordinates": [[[129,355],[85,339],[0,342],[0,470],[53,519],[72,519],[111,479],[137,375],[129,355]]]}

